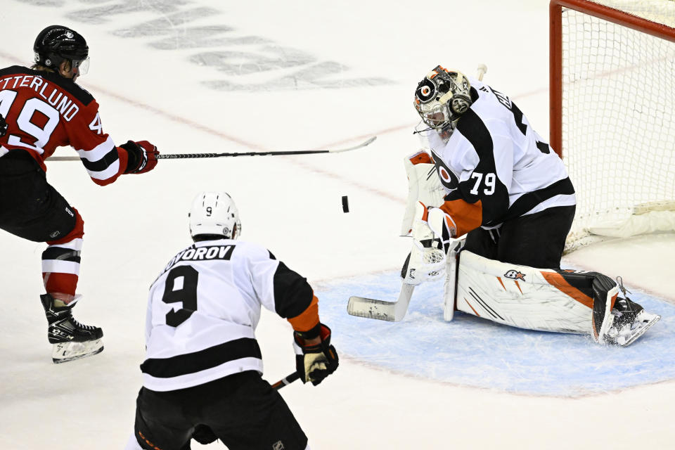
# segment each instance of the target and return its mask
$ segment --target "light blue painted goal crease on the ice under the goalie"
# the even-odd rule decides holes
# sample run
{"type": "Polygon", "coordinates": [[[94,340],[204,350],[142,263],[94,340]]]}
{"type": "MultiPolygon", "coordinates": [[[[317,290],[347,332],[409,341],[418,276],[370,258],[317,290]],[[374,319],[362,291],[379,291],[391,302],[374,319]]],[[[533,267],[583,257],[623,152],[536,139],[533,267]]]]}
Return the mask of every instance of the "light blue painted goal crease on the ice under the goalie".
{"type": "MultiPolygon", "coordinates": [[[[532,395],[580,397],[675,379],[675,306],[629,288],[631,299],[662,320],[629,347],[601,346],[590,336],[503,326],[457,312],[443,320],[443,283],[413,293],[398,323],[347,314],[352,295],[394,301],[397,273],[317,286],[322,321],[349,356],[392,371],[446,383],[532,395]]],[[[590,320],[590,317],[589,317],[590,320]]]]}

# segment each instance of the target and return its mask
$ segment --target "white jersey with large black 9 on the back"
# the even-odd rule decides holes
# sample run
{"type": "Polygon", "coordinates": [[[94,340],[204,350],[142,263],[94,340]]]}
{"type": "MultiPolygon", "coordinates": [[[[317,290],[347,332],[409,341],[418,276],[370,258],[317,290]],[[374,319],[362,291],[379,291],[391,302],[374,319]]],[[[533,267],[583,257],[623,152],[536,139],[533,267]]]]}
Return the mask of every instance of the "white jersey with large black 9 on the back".
{"type": "Polygon", "coordinates": [[[148,295],[143,386],[178,390],[241,371],[262,373],[261,305],[307,330],[319,323],[305,278],[265,248],[197,242],[171,259],[148,295]]]}

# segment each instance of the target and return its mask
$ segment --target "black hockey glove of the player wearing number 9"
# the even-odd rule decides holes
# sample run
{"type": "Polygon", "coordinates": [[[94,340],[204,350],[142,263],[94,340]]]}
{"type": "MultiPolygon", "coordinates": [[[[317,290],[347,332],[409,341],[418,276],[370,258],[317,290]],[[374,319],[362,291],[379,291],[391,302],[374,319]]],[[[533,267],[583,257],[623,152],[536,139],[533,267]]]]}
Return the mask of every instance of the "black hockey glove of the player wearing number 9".
{"type": "Polygon", "coordinates": [[[319,323],[309,331],[293,333],[295,368],[302,383],[318,385],[338,368],[338,352],[330,345],[330,328],[319,323]],[[321,337],[318,344],[307,344],[306,340],[321,337]]]}

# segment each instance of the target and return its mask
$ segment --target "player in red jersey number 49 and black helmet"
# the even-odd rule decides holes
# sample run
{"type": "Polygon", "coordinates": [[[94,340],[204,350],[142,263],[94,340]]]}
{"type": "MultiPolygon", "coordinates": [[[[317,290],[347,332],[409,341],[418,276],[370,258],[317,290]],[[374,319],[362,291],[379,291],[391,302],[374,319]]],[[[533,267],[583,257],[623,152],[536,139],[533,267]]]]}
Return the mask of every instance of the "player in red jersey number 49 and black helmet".
{"type": "Polygon", "coordinates": [[[84,222],[47,183],[44,160],[57,147],[71,146],[94,183],[105,186],[121,174],[149,172],[159,152],[148,141],[115,146],[103,132],[98,103],[75,83],[89,67],[84,37],[52,25],[38,34],[33,50],[31,68],[0,70],[0,229],[49,245],[42,253],[46,294],[40,299],[58,363],[101,352],[103,331],[72,317],[84,222]]]}

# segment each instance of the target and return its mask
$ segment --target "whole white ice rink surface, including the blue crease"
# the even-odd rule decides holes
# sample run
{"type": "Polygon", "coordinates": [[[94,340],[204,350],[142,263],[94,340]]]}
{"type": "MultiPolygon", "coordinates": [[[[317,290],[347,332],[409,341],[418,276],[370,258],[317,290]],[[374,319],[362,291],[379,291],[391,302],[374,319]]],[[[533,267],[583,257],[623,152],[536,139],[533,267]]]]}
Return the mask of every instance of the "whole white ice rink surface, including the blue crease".
{"type": "MultiPolygon", "coordinates": [[[[398,237],[402,161],[418,148],[411,103],[426,72],[487,64],[485,81],[548,136],[547,1],[5,0],[2,67],[30,65],[34,37],[54,23],[86,37],[91,67],[78,82],[118,144],[200,153],[378,140],[337,155],[163,160],[105,188],[78,162],[48,162],[49,181],[85,221],[75,316],[103,328],[105,350],[51,363],[38,297],[44,245],[0,233],[0,449],[122,449],[141,386],[146,293],[190,242],[187,211],[203,190],[233,195],[242,238],[307,276],[333,328],[338,371],[282,391],[312,449],[673,448],[673,235],[563,261],[623,276],[662,314],[625,349],[461,314],[445,323],[433,285],[401,323],[345,311],[349,295],[396,295],[410,245],[398,237]]],[[[257,338],[267,380],[293,371],[288,323],[264,313],[257,338]]]]}

